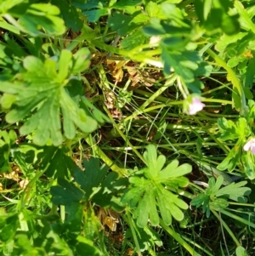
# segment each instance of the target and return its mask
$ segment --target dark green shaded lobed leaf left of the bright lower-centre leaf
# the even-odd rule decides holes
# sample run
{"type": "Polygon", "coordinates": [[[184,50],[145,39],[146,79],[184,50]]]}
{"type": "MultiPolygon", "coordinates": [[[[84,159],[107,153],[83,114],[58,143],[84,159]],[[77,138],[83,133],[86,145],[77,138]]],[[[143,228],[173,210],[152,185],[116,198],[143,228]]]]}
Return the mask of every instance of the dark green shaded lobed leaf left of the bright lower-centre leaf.
{"type": "Polygon", "coordinates": [[[118,179],[117,174],[107,174],[108,167],[99,166],[99,159],[84,160],[85,171],[73,169],[74,182],[59,178],[58,185],[51,187],[53,202],[68,205],[71,202],[93,201],[100,207],[110,207],[116,211],[123,209],[119,193],[127,187],[127,178],[118,179]]]}

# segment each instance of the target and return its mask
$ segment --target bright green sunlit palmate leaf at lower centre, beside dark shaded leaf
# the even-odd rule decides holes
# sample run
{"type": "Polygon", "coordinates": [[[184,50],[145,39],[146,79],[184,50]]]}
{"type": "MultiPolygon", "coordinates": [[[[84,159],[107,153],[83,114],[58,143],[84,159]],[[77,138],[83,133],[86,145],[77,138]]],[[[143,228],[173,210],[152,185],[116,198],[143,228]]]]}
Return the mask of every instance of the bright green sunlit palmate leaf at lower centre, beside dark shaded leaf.
{"type": "Polygon", "coordinates": [[[122,196],[122,202],[135,208],[133,218],[137,219],[140,227],[144,227],[148,219],[151,225],[159,225],[158,209],[167,225],[172,223],[172,217],[178,221],[184,219],[181,209],[187,209],[188,205],[178,195],[168,191],[166,185],[172,189],[188,185],[189,180],[183,175],[191,172],[191,166],[178,166],[178,161],[175,160],[163,168],[166,157],[157,156],[155,145],[147,146],[144,160],[147,164],[147,168],[142,170],[144,177],[140,177],[139,172],[129,179],[132,187],[122,196]]]}

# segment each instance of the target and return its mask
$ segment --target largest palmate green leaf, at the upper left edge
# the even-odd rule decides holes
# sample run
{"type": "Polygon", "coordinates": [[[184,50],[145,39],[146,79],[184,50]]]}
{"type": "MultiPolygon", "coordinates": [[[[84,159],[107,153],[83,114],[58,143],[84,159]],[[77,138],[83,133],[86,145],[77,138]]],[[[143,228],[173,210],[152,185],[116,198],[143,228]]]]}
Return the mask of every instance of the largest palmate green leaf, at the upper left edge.
{"type": "Polygon", "coordinates": [[[33,142],[37,145],[45,145],[49,139],[53,145],[62,143],[60,113],[67,139],[75,137],[76,127],[86,133],[94,131],[97,122],[77,105],[67,90],[71,72],[88,68],[89,57],[87,48],[80,49],[74,57],[70,51],[63,50],[58,63],[52,59],[42,62],[34,56],[26,57],[25,71],[17,74],[17,80],[0,84],[0,91],[5,93],[1,104],[3,109],[10,109],[6,121],[14,123],[28,117],[20,134],[34,131],[33,142]]]}

